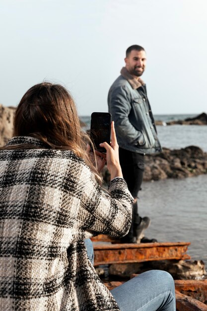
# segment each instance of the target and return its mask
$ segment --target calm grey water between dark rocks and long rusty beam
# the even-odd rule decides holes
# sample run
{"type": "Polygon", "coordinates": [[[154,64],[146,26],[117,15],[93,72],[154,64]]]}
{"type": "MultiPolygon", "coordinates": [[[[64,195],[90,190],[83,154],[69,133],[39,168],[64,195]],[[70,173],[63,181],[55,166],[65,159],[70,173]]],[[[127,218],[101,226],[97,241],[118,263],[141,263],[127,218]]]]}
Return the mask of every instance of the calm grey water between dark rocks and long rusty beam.
{"type": "Polygon", "coordinates": [[[207,175],[143,182],[141,188],[139,214],[151,219],[145,235],[191,242],[188,254],[207,267],[207,175]]]}

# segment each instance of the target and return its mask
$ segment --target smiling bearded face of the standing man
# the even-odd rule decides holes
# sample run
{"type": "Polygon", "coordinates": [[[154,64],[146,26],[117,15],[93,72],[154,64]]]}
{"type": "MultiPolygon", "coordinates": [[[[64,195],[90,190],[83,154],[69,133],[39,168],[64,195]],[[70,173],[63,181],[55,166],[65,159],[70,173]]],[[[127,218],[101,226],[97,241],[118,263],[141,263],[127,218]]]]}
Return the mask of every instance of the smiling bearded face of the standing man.
{"type": "Polygon", "coordinates": [[[146,66],[145,51],[132,50],[128,57],[125,58],[126,68],[131,75],[140,77],[146,66]]]}

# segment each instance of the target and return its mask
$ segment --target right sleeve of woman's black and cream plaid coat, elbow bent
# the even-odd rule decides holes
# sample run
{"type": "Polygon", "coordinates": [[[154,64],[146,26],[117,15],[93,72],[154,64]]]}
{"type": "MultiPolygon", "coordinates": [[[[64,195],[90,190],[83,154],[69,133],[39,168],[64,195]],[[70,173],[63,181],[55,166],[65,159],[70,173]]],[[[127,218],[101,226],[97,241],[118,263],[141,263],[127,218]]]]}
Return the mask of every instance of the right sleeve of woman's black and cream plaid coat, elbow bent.
{"type": "Polygon", "coordinates": [[[79,228],[92,232],[121,237],[128,233],[132,222],[134,198],[123,178],[115,178],[109,184],[108,193],[97,184],[89,168],[82,173],[79,228]]]}

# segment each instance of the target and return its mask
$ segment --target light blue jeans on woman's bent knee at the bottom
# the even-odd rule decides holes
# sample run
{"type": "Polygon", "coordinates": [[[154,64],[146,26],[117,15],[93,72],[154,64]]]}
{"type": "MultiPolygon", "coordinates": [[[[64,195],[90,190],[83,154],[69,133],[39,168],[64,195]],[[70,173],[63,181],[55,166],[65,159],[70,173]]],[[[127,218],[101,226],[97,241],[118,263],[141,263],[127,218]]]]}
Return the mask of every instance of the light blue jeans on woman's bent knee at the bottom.
{"type": "Polygon", "coordinates": [[[165,271],[150,270],[111,291],[121,311],[175,311],[175,286],[165,271]]]}

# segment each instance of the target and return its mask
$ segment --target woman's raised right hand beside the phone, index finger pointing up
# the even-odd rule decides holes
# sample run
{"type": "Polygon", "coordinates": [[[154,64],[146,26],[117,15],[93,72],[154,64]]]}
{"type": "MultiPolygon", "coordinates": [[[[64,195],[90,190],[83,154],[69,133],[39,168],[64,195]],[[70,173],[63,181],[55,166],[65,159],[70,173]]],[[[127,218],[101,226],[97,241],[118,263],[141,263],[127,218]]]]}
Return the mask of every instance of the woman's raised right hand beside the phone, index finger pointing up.
{"type": "Polygon", "coordinates": [[[115,177],[123,177],[122,169],[119,163],[119,146],[114,128],[114,121],[111,123],[111,146],[106,142],[100,144],[100,147],[106,149],[107,167],[111,174],[111,179],[115,177]]]}

